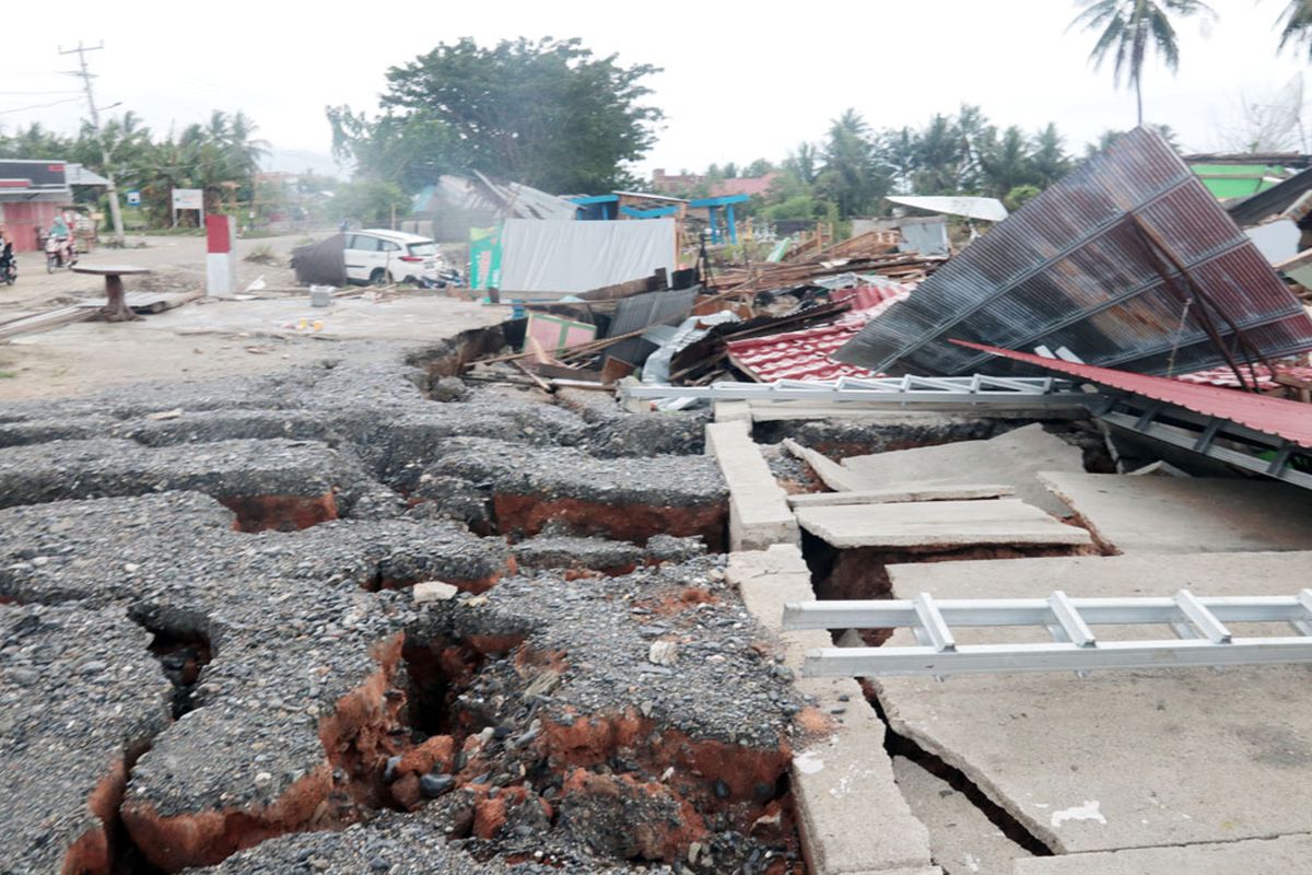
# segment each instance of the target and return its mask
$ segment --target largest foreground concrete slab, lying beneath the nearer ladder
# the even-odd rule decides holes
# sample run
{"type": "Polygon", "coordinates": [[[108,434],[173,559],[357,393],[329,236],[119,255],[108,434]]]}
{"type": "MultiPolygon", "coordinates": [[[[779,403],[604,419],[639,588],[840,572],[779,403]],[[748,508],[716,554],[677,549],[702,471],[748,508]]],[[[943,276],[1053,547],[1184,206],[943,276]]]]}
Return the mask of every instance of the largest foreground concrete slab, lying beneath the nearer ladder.
{"type": "MultiPolygon", "coordinates": [[[[913,598],[1288,594],[1312,554],[1017,559],[892,565],[913,598]]],[[[1236,626],[1253,635],[1256,624],[1236,626]]],[[[1098,626],[1103,639],[1170,638],[1098,626]]],[[[1039,628],[954,630],[960,644],[1051,640],[1039,628]]],[[[1286,634],[1273,628],[1273,634],[1286,634]]],[[[899,630],[887,645],[912,644],[899,630]]],[[[872,681],[895,732],[975,782],[1057,853],[1312,832],[1291,804],[1312,782],[1312,666],[1158,669],[872,681]]],[[[1164,868],[1157,871],[1191,871],[1164,868]]],[[[1235,870],[1249,871],[1249,870],[1235,870]]],[[[1252,870],[1262,871],[1262,870],[1252,870]]]]}

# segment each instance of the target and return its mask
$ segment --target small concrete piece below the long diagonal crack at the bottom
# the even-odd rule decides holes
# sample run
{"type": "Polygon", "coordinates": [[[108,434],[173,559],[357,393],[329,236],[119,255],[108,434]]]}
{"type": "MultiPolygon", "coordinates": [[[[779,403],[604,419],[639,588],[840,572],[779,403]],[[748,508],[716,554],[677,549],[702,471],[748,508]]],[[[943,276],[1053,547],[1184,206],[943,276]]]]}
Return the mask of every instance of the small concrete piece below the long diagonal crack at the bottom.
{"type": "Polygon", "coordinates": [[[893,757],[897,788],[911,812],[929,828],[929,846],[946,875],[1008,872],[1031,857],[984,816],[964,794],[907,757],[893,757]]]}

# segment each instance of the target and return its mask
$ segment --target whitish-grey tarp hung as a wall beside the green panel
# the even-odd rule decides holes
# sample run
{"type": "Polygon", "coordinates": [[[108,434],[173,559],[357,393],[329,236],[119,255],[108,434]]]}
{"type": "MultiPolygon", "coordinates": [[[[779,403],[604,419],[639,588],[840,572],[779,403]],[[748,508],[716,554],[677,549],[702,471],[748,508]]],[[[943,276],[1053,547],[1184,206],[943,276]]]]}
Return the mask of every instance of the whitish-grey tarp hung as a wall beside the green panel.
{"type": "Polygon", "coordinates": [[[506,219],[502,293],[580,293],[673,273],[674,220],[550,222],[506,219]]]}

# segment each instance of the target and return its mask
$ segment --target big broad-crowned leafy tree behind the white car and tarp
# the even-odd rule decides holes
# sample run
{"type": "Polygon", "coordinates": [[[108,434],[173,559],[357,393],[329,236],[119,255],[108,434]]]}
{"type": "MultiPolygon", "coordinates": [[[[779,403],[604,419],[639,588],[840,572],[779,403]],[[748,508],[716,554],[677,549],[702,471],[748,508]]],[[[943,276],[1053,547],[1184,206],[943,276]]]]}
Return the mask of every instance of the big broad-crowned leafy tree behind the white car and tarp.
{"type": "Polygon", "coordinates": [[[366,176],[407,188],[426,169],[417,143],[438,167],[551,192],[601,192],[628,181],[625,165],[655,142],[663,115],[643,102],[651,89],[642,84],[655,72],[596,56],[579,39],[521,38],[483,49],[464,38],[388,70],[383,118],[338,106],[328,119],[338,155],[354,157],[366,176]],[[408,160],[392,164],[398,155],[408,160]]]}

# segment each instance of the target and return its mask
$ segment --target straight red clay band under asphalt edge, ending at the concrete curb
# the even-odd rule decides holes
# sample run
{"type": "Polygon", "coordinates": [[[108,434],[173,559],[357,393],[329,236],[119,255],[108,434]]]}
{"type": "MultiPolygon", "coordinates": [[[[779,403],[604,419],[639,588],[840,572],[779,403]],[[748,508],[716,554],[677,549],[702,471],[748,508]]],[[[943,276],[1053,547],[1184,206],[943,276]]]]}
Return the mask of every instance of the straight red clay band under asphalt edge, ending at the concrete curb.
{"type": "Polygon", "coordinates": [[[531,537],[550,521],[563,521],[580,535],[602,535],[614,540],[646,544],[655,534],[687,538],[701,535],[714,552],[724,548],[728,504],[695,508],[668,508],[640,504],[597,504],[580,499],[541,499],[538,496],[497,495],[492,510],[502,533],[531,537]]]}

